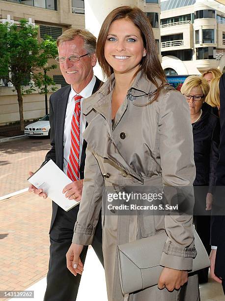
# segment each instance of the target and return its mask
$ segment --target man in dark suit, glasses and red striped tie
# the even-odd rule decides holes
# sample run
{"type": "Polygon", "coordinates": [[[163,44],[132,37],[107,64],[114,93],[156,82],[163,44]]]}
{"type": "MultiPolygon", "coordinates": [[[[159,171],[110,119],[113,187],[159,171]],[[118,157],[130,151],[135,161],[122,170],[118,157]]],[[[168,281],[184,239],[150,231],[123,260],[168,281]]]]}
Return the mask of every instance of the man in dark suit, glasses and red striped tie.
{"type": "MultiPolygon", "coordinates": [[[[46,160],[52,159],[73,181],[63,189],[65,198],[81,199],[84,179],[86,142],[82,133],[86,121],[82,115],[82,100],[97,91],[101,81],[93,74],[96,64],[96,38],[87,30],[69,29],[57,39],[59,63],[65,81],[70,85],[50,97],[51,146],[46,160]],[[79,141],[80,138],[80,141],[79,141]]],[[[30,192],[44,199],[47,194],[34,186],[30,192]]],[[[53,202],[50,227],[50,261],[44,301],[75,301],[81,275],[75,277],[66,268],[66,252],[73,237],[79,206],[66,212],[53,202]]],[[[92,246],[103,264],[101,215],[92,246]]],[[[84,263],[87,246],[82,253],[84,263]]]]}

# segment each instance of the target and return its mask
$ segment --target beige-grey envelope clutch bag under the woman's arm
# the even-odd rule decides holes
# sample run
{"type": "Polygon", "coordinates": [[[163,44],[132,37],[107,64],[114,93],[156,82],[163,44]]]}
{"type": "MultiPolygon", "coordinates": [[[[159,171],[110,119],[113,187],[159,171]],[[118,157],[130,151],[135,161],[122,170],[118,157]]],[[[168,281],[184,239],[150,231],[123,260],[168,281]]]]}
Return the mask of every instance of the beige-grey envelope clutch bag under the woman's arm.
{"type": "MultiPolygon", "coordinates": [[[[208,254],[195,230],[194,237],[197,255],[193,259],[193,269],[190,272],[210,266],[208,254]]],[[[166,232],[163,232],[118,245],[119,277],[124,295],[158,283],[163,270],[160,260],[167,239],[166,232]]]]}

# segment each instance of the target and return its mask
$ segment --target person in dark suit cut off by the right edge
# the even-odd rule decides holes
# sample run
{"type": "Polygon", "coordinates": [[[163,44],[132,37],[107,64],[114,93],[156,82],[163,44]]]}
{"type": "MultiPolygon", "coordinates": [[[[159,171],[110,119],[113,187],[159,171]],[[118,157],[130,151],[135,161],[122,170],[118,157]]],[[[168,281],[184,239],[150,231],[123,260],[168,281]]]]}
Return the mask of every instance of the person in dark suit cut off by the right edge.
{"type": "Polygon", "coordinates": [[[225,74],[220,78],[220,146],[216,169],[216,193],[211,217],[210,272],[225,293],[225,74]]]}

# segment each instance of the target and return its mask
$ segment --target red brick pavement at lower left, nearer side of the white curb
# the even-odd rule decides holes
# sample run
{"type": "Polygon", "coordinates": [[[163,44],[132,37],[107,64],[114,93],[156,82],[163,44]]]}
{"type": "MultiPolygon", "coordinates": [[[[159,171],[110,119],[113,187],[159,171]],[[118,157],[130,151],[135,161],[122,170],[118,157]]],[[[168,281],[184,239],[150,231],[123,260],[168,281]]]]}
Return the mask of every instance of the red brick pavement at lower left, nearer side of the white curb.
{"type": "Polygon", "coordinates": [[[29,192],[0,201],[1,291],[24,290],[46,276],[51,203],[29,192]]]}

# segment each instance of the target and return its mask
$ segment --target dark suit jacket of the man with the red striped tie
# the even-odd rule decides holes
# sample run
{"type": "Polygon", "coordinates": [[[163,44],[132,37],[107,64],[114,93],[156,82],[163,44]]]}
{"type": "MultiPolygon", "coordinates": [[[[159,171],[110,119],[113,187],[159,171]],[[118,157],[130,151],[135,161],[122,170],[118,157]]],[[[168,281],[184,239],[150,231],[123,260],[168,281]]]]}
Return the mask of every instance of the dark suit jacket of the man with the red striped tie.
{"type": "MultiPolygon", "coordinates": [[[[96,82],[92,91],[95,93],[101,86],[102,82],[96,77],[96,82]]],[[[50,126],[51,126],[51,136],[50,144],[52,146],[51,150],[46,154],[45,160],[52,159],[56,165],[63,170],[63,134],[64,134],[64,121],[66,114],[66,107],[68,102],[69,93],[71,86],[63,87],[53,93],[50,97],[50,126]]],[[[83,143],[81,163],[80,163],[80,178],[84,179],[84,162],[85,162],[85,150],[86,141],[83,143]]],[[[54,224],[56,213],[58,210],[58,205],[53,202],[53,213],[52,221],[50,226],[50,232],[54,224]]],[[[71,217],[74,222],[76,221],[77,212],[79,206],[74,207],[68,211],[68,217],[71,217]]]]}

